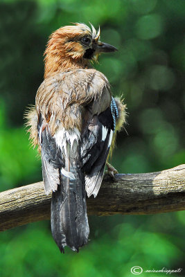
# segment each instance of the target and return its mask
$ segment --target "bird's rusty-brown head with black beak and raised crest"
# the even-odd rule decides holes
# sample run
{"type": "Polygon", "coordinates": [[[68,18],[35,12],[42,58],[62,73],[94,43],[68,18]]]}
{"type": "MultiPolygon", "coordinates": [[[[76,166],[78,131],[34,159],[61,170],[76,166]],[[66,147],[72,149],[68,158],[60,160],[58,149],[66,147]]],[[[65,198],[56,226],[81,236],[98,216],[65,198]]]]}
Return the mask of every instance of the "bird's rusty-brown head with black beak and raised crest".
{"type": "Polygon", "coordinates": [[[45,78],[56,71],[73,68],[87,68],[91,60],[98,60],[100,53],[117,51],[110,45],[100,42],[94,26],[76,23],[56,30],[49,39],[45,55],[45,78]]]}

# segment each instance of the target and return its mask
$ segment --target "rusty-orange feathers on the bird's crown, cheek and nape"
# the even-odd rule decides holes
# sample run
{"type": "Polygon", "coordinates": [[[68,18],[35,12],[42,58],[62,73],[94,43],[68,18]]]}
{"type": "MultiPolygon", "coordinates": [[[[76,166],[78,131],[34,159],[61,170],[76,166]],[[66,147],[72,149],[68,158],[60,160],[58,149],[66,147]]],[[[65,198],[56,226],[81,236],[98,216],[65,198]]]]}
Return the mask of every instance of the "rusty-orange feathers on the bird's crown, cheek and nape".
{"type": "Polygon", "coordinates": [[[91,67],[89,60],[83,58],[85,48],[79,42],[83,35],[91,35],[85,24],[64,26],[51,34],[44,52],[44,78],[57,72],[91,67]]]}

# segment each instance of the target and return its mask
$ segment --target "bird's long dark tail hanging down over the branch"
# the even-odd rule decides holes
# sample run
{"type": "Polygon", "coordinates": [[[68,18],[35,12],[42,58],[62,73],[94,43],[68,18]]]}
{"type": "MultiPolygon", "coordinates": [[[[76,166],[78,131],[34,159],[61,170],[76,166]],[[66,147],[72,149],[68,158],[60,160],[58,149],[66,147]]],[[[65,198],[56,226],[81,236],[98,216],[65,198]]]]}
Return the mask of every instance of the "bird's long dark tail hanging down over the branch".
{"type": "Polygon", "coordinates": [[[67,154],[65,168],[60,170],[60,185],[51,199],[51,231],[63,253],[66,245],[78,251],[89,237],[85,178],[76,153],[77,149],[67,154]]]}

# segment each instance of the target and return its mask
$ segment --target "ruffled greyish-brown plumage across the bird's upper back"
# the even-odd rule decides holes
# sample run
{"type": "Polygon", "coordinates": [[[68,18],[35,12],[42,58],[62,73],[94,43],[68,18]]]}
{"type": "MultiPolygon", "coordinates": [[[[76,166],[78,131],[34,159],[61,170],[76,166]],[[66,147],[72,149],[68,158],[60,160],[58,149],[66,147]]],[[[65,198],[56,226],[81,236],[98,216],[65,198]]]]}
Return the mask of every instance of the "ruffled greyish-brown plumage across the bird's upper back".
{"type": "Polygon", "coordinates": [[[50,117],[48,125],[54,135],[56,130],[62,127],[77,127],[81,130],[84,106],[92,99],[94,114],[99,114],[109,107],[111,95],[105,75],[95,69],[70,70],[44,80],[37,91],[36,107],[46,122],[50,117]]]}

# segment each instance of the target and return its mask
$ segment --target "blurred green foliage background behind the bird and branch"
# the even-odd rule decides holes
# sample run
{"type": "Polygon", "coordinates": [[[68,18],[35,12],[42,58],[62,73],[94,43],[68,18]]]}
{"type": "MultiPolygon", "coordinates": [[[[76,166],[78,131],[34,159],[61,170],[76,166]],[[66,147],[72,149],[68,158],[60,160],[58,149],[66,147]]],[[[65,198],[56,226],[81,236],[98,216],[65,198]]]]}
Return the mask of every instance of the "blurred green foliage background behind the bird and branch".
{"type": "MultiPolygon", "coordinates": [[[[184,163],[184,0],[7,0],[0,2],[1,190],[42,179],[24,111],[43,80],[49,35],[76,21],[100,25],[102,41],[119,50],[95,65],[127,104],[127,133],[118,135],[113,165],[132,173],[184,163]]],[[[91,216],[87,247],[64,255],[49,222],[21,226],[0,234],[0,276],[122,277],[133,276],[130,268],[137,265],[182,268],[184,215],[91,216]]],[[[185,267],[179,275],[185,276],[185,267]]]]}

